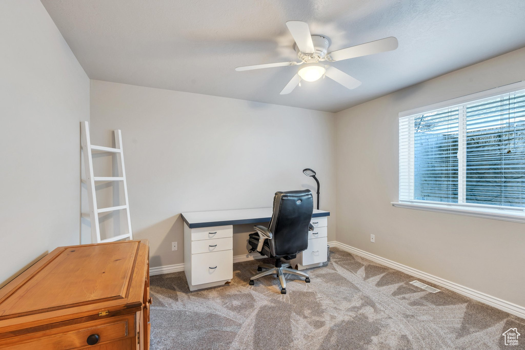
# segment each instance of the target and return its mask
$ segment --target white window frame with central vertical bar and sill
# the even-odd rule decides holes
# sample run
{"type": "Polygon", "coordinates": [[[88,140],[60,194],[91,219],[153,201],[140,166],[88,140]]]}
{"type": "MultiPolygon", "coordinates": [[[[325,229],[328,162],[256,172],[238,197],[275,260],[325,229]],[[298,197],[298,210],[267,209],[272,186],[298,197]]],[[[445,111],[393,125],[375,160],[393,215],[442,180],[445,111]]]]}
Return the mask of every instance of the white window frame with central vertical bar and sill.
{"type": "MultiPolygon", "coordinates": [[[[510,207],[510,206],[497,206],[497,205],[488,205],[488,204],[475,204],[475,203],[465,203],[465,189],[466,189],[466,161],[467,161],[467,152],[466,152],[466,108],[465,105],[470,102],[482,101],[485,99],[490,99],[496,96],[500,96],[506,93],[513,93],[525,89],[525,81],[520,81],[516,83],[511,83],[505,86],[501,86],[494,89],[489,89],[485,91],[480,91],[477,93],[468,94],[466,96],[458,97],[451,100],[446,100],[424,107],[415,108],[412,110],[404,111],[399,113],[399,118],[404,117],[413,117],[419,114],[425,114],[429,112],[434,112],[437,110],[452,109],[459,107],[459,130],[458,130],[458,203],[445,203],[445,202],[430,202],[424,200],[407,200],[401,199],[398,197],[397,201],[391,202],[394,207],[398,208],[408,208],[408,209],[418,209],[418,210],[430,210],[437,211],[439,213],[449,213],[449,214],[458,214],[482,218],[490,218],[497,220],[513,221],[513,222],[522,222],[525,223],[525,207],[510,207]],[[463,166],[461,166],[463,165],[463,166]]],[[[413,129],[413,128],[410,128],[413,129]]],[[[399,131],[398,131],[399,132],[399,131]]],[[[410,131],[413,139],[413,130],[410,131]]],[[[410,142],[411,148],[414,147],[413,141],[410,142]]],[[[400,154],[398,153],[398,161],[401,160],[400,154]]],[[[408,150],[409,156],[413,157],[413,150],[408,150]]],[[[413,163],[413,162],[412,162],[413,163]]],[[[398,163],[398,170],[401,174],[400,163],[398,163]]],[[[409,166],[408,180],[413,181],[414,179],[414,167],[409,166]]],[[[401,187],[401,177],[398,178],[398,186],[401,187]]],[[[398,187],[398,189],[400,189],[398,187]]],[[[413,186],[412,186],[413,189],[413,186]]],[[[399,195],[399,191],[398,191],[399,195]]]]}

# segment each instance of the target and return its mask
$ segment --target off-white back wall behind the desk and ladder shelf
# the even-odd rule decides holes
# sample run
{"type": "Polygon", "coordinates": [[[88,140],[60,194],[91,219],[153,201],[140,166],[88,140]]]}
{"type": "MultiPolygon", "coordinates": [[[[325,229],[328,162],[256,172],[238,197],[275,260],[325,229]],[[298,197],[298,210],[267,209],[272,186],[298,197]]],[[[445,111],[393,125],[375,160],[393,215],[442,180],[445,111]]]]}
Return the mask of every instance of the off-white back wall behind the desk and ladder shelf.
{"type": "MultiPolygon", "coordinates": [[[[318,173],[334,240],[334,126],[328,112],[91,80],[91,140],[111,145],[110,131],[122,130],[133,238],[150,240],[151,267],[184,261],[180,213],[315,192],[306,167],[318,173]]],[[[235,228],[235,255],[247,253],[248,231],[235,228]]]]}

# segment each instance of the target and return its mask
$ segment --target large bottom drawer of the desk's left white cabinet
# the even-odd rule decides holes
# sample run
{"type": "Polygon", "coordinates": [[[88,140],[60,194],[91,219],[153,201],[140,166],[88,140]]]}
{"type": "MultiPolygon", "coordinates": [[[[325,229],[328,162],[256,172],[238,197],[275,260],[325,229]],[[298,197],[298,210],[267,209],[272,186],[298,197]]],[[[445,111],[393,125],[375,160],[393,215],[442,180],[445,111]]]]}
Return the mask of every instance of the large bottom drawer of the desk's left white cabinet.
{"type": "MultiPolygon", "coordinates": [[[[326,251],[326,247],[324,250],[326,251]]],[[[233,251],[192,254],[191,273],[193,285],[232,279],[233,251]]]]}

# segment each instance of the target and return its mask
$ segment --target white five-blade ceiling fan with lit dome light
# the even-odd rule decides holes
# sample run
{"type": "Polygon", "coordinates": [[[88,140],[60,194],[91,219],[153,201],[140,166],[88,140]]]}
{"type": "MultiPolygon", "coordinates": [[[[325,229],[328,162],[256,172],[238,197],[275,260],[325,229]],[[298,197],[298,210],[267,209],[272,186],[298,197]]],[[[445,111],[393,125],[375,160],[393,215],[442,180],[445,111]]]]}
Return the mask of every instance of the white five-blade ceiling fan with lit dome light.
{"type": "Polygon", "coordinates": [[[286,26],[295,40],[295,50],[300,62],[279,62],[266,63],[264,65],[244,66],[235,68],[236,71],[285,67],[285,66],[299,66],[304,63],[304,66],[299,69],[295,76],[286,84],[285,88],[280,92],[281,95],[293,91],[296,86],[301,86],[301,79],[306,81],[316,81],[322,76],[327,76],[340,83],[348,89],[355,89],[361,85],[361,81],[352,78],[345,72],[328,65],[323,65],[322,61],[335,62],[342,61],[349,58],[367,56],[377,54],[379,52],[391,51],[397,48],[397,39],[388,37],[380,40],[370,41],[370,43],[347,47],[345,49],[328,52],[330,46],[330,39],[324,35],[311,35],[308,24],[298,20],[290,20],[286,22],[286,26]]]}

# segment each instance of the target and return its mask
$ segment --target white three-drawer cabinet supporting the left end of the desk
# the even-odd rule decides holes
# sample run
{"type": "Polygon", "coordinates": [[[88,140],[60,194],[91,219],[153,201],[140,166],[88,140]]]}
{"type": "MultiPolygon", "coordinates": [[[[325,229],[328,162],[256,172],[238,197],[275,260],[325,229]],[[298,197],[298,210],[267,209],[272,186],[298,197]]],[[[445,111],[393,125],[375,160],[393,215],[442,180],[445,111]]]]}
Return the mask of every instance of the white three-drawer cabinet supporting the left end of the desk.
{"type": "Polygon", "coordinates": [[[184,272],[191,291],[233,278],[233,226],[184,225],[184,272]]]}

